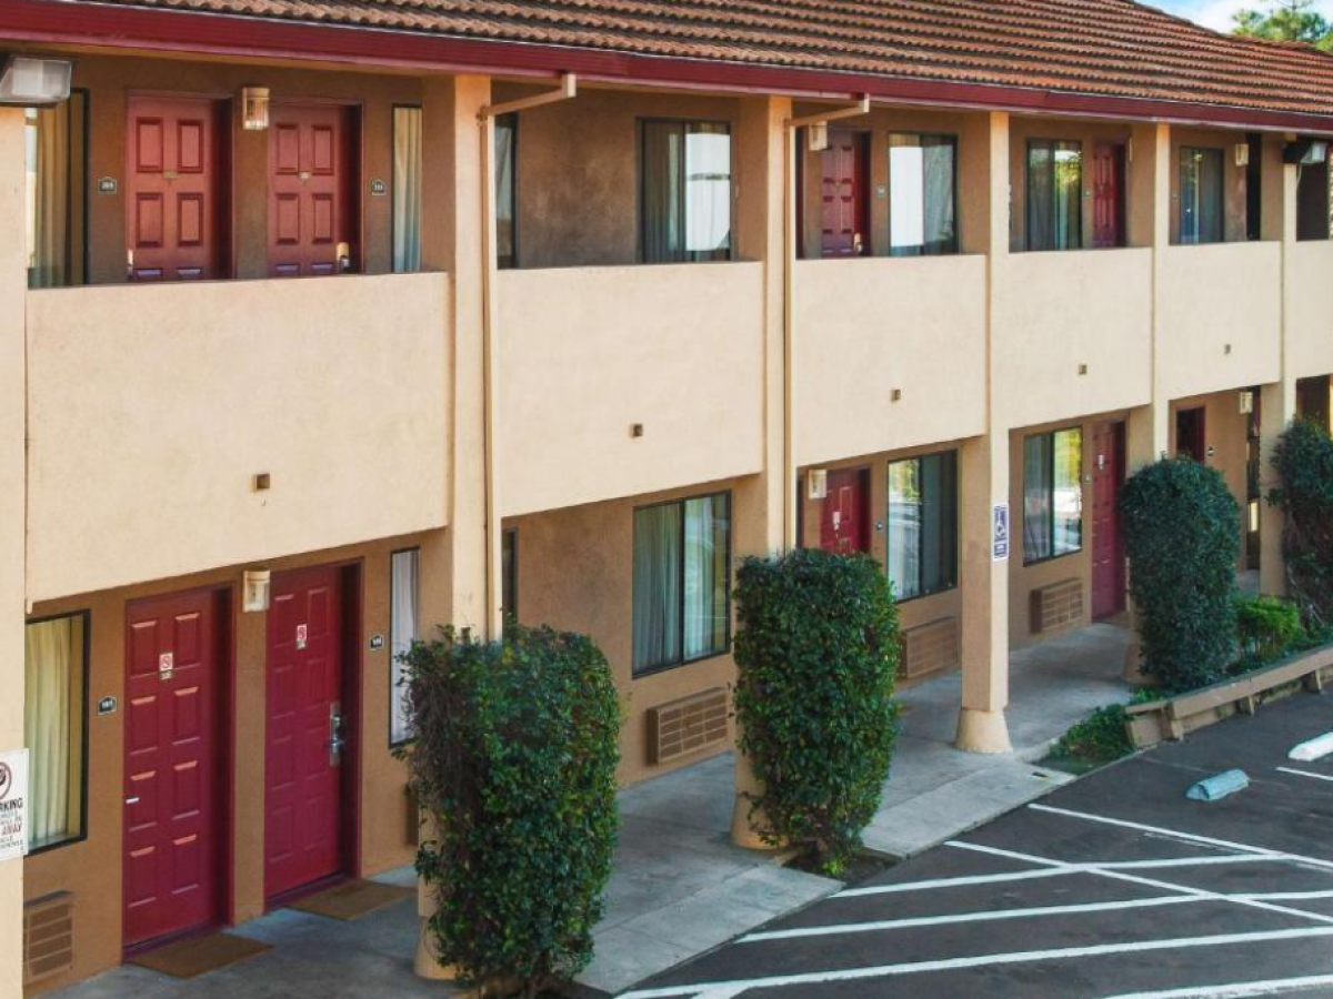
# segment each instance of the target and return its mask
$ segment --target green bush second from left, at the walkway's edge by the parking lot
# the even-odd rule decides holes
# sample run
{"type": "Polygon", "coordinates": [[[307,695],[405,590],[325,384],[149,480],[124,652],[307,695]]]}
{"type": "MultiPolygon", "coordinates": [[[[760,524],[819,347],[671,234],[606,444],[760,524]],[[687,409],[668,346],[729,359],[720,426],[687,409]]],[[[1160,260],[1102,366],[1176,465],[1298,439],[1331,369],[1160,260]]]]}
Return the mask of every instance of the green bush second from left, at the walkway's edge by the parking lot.
{"type": "Polygon", "coordinates": [[[798,550],[737,573],[740,749],[773,843],[838,874],[880,806],[897,709],[898,614],[866,555],[798,550]]]}

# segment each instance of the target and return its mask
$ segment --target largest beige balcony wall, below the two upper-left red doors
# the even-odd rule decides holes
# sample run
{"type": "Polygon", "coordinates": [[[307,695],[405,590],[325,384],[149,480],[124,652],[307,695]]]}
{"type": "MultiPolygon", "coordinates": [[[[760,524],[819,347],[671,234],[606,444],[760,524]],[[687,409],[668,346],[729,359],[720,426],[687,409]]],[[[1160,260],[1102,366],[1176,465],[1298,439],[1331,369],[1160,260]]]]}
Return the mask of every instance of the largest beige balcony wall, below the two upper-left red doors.
{"type": "Polygon", "coordinates": [[[445,296],[443,274],[29,294],[29,598],[441,526],[445,296]]]}

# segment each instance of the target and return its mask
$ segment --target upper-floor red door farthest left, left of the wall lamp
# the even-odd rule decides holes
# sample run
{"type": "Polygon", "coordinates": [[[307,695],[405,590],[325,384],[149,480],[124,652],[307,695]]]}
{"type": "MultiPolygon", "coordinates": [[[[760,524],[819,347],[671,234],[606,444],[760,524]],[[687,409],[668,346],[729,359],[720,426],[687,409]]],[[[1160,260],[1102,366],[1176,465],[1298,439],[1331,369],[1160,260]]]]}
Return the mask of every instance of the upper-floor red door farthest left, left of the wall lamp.
{"type": "Polygon", "coordinates": [[[228,276],[227,101],[131,97],[125,238],[131,281],[228,276]]]}

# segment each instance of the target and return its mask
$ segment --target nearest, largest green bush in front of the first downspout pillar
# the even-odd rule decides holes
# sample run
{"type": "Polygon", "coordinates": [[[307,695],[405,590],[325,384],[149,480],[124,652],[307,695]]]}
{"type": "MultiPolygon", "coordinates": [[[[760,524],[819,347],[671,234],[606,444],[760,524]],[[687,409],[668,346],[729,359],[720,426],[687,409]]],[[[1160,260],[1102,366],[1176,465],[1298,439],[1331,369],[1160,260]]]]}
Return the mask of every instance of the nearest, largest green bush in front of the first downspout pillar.
{"type": "Polygon", "coordinates": [[[620,702],[591,639],[509,623],[413,643],[404,751],[441,963],[536,995],[592,959],[616,844],[620,702]]]}

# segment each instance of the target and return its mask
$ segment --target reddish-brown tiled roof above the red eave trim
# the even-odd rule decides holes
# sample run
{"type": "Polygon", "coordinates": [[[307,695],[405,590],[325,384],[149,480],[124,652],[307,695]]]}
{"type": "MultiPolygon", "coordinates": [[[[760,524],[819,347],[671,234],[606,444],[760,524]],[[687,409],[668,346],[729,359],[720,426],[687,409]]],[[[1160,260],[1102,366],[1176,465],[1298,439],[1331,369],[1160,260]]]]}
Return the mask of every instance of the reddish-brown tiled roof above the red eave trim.
{"type": "Polygon", "coordinates": [[[1133,0],[103,0],[452,37],[1333,115],[1333,56],[1133,0]]]}

